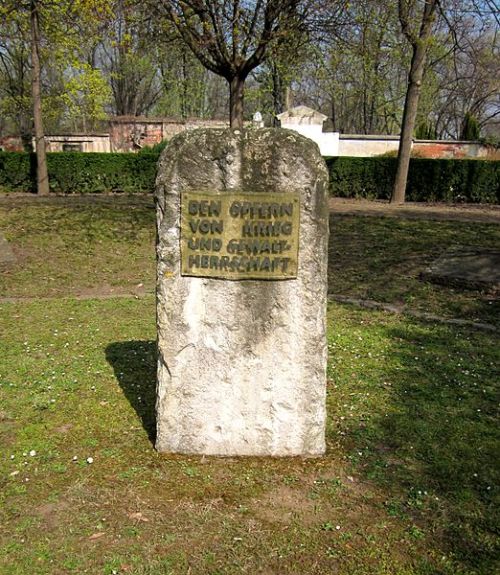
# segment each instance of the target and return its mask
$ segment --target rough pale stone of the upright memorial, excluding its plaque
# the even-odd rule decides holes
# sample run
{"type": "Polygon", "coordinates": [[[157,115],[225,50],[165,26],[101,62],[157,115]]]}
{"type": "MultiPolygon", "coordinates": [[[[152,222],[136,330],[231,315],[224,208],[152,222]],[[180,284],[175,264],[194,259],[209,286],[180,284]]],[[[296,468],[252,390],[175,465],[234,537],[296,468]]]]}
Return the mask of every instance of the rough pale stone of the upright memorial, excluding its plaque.
{"type": "Polygon", "coordinates": [[[325,450],[328,175],[288,130],[197,130],[161,156],[157,200],[157,442],[161,452],[325,450]],[[296,279],[180,275],[182,191],[299,192],[296,279]]]}

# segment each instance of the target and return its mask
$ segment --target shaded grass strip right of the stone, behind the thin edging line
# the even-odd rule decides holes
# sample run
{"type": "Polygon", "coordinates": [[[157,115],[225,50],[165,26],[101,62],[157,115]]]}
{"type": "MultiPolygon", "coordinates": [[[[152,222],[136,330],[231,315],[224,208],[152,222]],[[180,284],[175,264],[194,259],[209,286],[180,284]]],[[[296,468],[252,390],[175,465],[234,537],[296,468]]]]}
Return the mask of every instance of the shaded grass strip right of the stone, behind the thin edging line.
{"type": "Polygon", "coordinates": [[[497,224],[338,216],[330,231],[331,293],[500,326],[498,297],[419,279],[450,248],[498,248],[497,224]]]}

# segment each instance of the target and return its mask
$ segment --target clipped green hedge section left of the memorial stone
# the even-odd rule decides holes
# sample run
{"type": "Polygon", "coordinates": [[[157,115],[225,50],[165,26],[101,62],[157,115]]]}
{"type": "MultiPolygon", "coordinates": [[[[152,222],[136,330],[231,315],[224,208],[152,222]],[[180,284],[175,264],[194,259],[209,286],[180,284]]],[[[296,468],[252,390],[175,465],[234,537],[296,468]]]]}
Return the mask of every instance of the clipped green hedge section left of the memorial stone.
{"type": "MultiPolygon", "coordinates": [[[[50,190],[58,194],[88,192],[151,193],[159,154],[47,154],[50,190]]],[[[0,190],[35,192],[36,156],[0,152],[0,190]]]]}

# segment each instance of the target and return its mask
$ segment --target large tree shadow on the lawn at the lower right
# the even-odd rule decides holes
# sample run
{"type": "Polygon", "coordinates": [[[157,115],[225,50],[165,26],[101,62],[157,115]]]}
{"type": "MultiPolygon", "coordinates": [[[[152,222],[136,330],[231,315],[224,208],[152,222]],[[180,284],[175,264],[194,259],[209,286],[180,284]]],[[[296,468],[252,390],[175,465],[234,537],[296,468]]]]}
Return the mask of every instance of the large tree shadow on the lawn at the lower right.
{"type": "Polygon", "coordinates": [[[375,396],[372,416],[347,431],[351,459],[388,488],[390,514],[423,526],[414,536],[454,558],[461,569],[453,572],[495,572],[498,348],[491,336],[410,322],[370,335],[390,351],[364,381],[348,384],[375,396]]]}

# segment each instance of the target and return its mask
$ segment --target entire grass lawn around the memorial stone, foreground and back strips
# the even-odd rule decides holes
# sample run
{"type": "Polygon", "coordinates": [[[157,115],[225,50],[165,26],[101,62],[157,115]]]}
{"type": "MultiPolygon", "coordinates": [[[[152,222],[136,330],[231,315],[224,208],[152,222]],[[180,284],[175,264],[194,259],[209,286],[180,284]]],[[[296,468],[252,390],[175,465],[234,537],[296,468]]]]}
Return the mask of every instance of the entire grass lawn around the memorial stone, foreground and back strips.
{"type": "MultiPolygon", "coordinates": [[[[332,304],[325,457],[158,455],[154,296],[37,299],[151,291],[154,211],[2,207],[0,229],[1,294],[34,298],[0,303],[0,574],[496,572],[496,335],[332,304]]],[[[493,323],[417,270],[495,238],[336,217],[330,286],[493,323]]]]}

